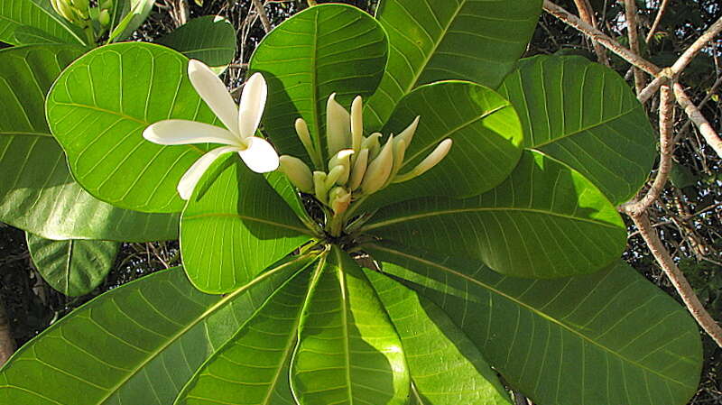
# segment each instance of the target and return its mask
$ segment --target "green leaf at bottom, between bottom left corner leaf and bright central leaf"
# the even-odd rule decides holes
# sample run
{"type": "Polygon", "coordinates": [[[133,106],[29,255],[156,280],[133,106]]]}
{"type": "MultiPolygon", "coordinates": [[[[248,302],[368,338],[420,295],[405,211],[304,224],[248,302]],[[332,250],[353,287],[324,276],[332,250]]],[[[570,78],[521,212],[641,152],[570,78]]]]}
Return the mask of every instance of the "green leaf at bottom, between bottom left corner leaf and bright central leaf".
{"type": "Polygon", "coordinates": [[[311,273],[297,274],[273,293],[236,336],[199,369],[175,405],[231,404],[239,400],[246,404],[295,405],[289,364],[311,273]]]}

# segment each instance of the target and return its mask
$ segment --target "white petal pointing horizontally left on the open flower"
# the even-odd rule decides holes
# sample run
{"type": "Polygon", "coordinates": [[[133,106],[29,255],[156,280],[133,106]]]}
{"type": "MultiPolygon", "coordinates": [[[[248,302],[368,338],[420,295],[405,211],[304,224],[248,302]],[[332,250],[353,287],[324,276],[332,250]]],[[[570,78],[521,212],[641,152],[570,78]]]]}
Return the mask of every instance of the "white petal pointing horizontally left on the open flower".
{"type": "Polygon", "coordinates": [[[163,120],[151,124],[143,131],[143,138],[162,145],[221,143],[240,146],[236,135],[226,128],[187,120],[163,120]]]}

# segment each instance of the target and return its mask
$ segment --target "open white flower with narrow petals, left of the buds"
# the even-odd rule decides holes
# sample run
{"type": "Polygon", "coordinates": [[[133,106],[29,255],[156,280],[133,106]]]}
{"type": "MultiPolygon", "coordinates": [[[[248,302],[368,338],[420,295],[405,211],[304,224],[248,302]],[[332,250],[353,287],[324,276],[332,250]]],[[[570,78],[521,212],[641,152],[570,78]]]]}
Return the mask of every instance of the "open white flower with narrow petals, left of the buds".
{"type": "Polygon", "coordinates": [[[180,198],[190,198],[203,173],[224,153],[237,152],[248,169],[256,173],[276,170],[279,165],[278,153],[271,143],[254,136],[264,113],[268,93],[264,77],[255,73],[248,78],[238,108],[223,81],[203,62],[190,60],[188,76],[199,96],[227,129],[188,120],[164,120],[145,128],[143,138],[162,145],[221,143],[227,146],[204,154],[190,166],[178,182],[180,198]]]}

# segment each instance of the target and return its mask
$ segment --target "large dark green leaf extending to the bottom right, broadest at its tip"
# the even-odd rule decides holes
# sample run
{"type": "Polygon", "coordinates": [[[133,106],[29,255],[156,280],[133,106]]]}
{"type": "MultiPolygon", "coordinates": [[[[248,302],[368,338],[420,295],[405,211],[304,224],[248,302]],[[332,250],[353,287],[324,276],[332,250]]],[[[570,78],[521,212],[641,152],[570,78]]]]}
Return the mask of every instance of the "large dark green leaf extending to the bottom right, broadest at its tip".
{"type": "Polygon", "coordinates": [[[683,405],[697,390],[697,325],[625,262],[532,281],[406,247],[366,251],[444,309],[534,403],[683,405]]]}

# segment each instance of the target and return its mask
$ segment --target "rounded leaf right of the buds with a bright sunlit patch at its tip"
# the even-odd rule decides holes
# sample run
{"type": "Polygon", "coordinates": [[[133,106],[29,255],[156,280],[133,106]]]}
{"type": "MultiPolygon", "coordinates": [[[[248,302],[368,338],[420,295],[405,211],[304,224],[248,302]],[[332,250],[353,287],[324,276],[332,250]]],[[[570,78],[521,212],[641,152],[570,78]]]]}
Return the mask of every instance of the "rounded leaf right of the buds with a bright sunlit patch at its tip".
{"type": "Polygon", "coordinates": [[[419,87],[399,102],[383,133],[401,133],[416,116],[421,120],[400,173],[412,170],[447,138],[453,140],[449,154],[430,171],[389,186],[366,204],[477,196],[506,179],[522,155],[519,117],[508,101],[489,88],[464,81],[419,87]]]}

